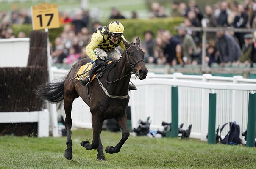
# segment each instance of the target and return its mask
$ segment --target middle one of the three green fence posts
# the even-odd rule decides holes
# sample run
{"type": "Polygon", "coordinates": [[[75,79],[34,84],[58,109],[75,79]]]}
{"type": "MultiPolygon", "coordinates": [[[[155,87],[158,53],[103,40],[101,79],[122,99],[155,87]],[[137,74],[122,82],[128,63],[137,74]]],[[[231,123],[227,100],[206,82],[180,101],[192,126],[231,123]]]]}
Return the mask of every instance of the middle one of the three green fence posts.
{"type": "Polygon", "coordinates": [[[216,93],[209,93],[208,144],[216,144],[216,93]]]}

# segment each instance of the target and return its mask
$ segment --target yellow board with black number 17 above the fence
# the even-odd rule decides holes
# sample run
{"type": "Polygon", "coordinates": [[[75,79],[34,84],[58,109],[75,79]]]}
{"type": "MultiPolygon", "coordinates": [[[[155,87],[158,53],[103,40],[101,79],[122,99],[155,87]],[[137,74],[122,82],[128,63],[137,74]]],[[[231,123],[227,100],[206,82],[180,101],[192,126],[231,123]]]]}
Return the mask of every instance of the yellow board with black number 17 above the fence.
{"type": "Polygon", "coordinates": [[[31,6],[33,30],[57,28],[59,25],[58,6],[49,3],[31,6]]]}

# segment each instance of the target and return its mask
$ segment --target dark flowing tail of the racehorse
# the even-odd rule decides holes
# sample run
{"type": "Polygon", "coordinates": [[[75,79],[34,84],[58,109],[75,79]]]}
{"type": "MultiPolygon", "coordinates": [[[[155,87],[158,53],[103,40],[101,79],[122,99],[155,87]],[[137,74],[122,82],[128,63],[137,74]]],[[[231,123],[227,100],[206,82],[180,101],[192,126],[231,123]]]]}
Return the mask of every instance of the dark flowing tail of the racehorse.
{"type": "Polygon", "coordinates": [[[36,90],[36,94],[41,98],[45,98],[51,103],[58,103],[62,101],[64,99],[65,79],[56,79],[54,82],[40,86],[39,89],[36,90]]]}

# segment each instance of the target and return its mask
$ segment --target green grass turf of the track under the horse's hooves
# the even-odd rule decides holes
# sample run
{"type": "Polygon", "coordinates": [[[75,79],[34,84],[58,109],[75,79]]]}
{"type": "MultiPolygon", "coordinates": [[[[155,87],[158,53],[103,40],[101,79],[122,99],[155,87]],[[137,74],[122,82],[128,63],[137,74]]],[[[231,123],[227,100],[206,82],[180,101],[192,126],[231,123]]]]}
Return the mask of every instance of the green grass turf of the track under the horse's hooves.
{"type": "MultiPolygon", "coordinates": [[[[116,145],[121,133],[103,131],[103,146],[116,145]]],[[[207,144],[198,139],[130,136],[120,153],[105,153],[81,147],[92,139],[92,130],[72,131],[73,160],[64,158],[66,137],[0,137],[0,169],[255,169],[256,149],[242,145],[207,144]]]]}

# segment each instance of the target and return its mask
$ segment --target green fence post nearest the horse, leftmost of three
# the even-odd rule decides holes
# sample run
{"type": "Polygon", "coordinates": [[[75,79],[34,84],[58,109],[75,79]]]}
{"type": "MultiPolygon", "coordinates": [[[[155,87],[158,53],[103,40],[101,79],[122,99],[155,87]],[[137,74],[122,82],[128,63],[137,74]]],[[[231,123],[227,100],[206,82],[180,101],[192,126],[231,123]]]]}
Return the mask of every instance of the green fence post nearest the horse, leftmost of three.
{"type": "Polygon", "coordinates": [[[178,87],[172,86],[172,130],[171,137],[178,137],[178,87]]]}

